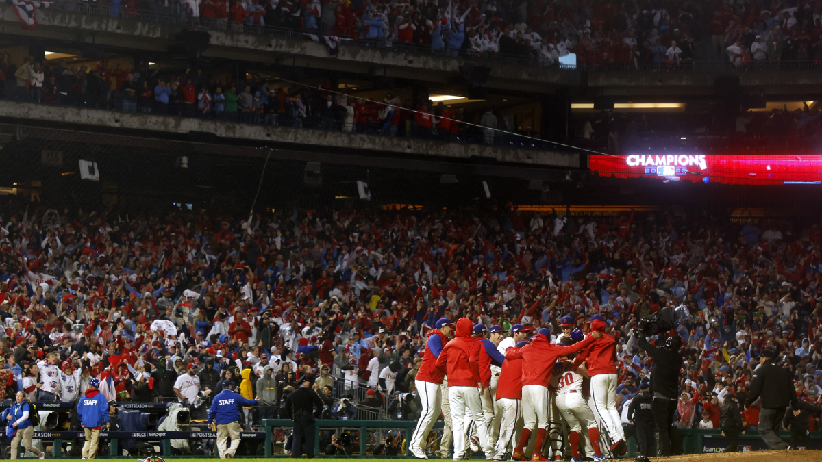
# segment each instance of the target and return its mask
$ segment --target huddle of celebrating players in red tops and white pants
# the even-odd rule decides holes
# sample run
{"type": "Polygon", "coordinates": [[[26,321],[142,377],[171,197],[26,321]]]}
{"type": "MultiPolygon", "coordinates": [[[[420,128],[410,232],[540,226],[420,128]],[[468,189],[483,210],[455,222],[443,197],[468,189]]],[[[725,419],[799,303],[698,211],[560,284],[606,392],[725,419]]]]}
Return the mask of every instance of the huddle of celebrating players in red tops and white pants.
{"type": "MultiPolygon", "coordinates": [[[[626,455],[617,412],[617,340],[599,315],[591,316],[587,334],[574,328],[571,316],[560,326],[561,335],[552,335],[519,324],[506,332],[468,318],[436,321],[416,377],[423,410],[409,442],[413,455],[427,459],[429,433],[440,416],[442,458],[452,443],[454,460],[479,450],[486,460],[626,455]]],[[[656,347],[644,333],[637,336],[653,356],[656,347]]],[[[678,335],[667,337],[663,349],[679,354],[680,343],[678,335]]]]}

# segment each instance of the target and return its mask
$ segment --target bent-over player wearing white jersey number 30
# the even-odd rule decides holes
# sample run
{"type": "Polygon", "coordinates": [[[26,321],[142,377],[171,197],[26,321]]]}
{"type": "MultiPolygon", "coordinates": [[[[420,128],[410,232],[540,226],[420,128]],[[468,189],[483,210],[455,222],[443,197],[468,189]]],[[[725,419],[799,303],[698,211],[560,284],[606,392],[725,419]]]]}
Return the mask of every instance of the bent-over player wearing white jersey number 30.
{"type": "MultiPolygon", "coordinates": [[[[575,344],[583,340],[584,335],[579,329],[571,332],[570,338],[563,339],[568,344],[575,344]]],[[[580,365],[574,367],[575,363],[563,361],[557,363],[554,368],[556,383],[556,407],[565,418],[570,432],[568,432],[568,442],[570,443],[571,462],[579,462],[580,457],[580,432],[584,425],[588,429],[588,437],[593,446],[593,460],[607,460],[599,450],[599,428],[597,421],[593,418],[593,412],[585,404],[582,396],[582,382],[588,373],[585,367],[580,365]]]]}

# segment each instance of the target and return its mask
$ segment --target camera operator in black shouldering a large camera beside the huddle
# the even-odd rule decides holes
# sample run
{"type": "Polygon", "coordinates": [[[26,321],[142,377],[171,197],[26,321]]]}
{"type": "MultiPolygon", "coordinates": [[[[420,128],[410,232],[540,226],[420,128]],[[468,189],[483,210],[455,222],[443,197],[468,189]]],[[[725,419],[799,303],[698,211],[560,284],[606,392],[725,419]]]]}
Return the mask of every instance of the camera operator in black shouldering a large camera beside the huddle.
{"type": "MultiPolygon", "coordinates": [[[[657,344],[663,342],[660,334],[657,344]]],[[[673,455],[673,440],[679,440],[679,431],[672,427],[673,416],[677,413],[679,396],[679,371],[682,367],[682,354],[679,352],[682,339],[672,335],[664,340],[663,347],[657,347],[645,340],[643,330],[638,331],[637,343],[653,358],[651,368],[651,392],[653,394],[653,420],[659,427],[659,442],[662,444],[662,455],[673,455]]],[[[677,444],[677,446],[679,446],[677,444]]]]}

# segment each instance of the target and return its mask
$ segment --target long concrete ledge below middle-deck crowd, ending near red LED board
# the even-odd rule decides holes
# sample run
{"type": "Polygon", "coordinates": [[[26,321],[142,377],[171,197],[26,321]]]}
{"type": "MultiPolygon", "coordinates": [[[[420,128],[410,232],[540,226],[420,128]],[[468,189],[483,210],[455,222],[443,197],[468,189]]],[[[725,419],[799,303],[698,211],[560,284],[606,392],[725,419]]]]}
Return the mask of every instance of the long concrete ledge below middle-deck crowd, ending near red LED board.
{"type": "MultiPolygon", "coordinates": [[[[238,122],[178,118],[143,113],[117,113],[102,109],[82,109],[50,104],[0,101],[0,117],[62,122],[66,124],[117,127],[152,132],[210,132],[225,138],[256,140],[272,144],[316,146],[321,150],[339,147],[362,150],[363,155],[390,153],[423,155],[431,159],[469,159],[479,156],[500,162],[534,166],[580,167],[580,155],[548,150],[519,150],[484,145],[416,140],[391,136],[324,132],[307,128],[251,125],[238,122]]],[[[280,145],[283,146],[283,145],[280,145]]],[[[286,145],[288,146],[288,145],[286,145]]]]}

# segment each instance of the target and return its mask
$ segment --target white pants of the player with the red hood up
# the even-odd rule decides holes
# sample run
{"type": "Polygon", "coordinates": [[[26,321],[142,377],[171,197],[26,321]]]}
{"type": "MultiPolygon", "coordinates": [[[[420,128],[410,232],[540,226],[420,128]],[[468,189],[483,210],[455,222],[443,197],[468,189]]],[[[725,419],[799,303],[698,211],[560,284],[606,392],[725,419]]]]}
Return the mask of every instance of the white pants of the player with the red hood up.
{"type": "Polygon", "coordinates": [[[485,423],[483,404],[479,399],[479,390],[475,386],[450,386],[448,400],[451,407],[451,423],[454,425],[454,460],[460,460],[465,453],[465,442],[468,439],[466,422],[477,427],[480,447],[486,455],[491,454],[491,438],[488,437],[488,426],[485,423]]]}

